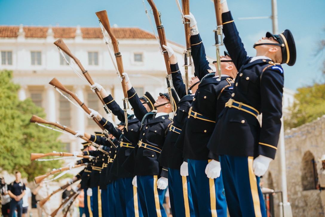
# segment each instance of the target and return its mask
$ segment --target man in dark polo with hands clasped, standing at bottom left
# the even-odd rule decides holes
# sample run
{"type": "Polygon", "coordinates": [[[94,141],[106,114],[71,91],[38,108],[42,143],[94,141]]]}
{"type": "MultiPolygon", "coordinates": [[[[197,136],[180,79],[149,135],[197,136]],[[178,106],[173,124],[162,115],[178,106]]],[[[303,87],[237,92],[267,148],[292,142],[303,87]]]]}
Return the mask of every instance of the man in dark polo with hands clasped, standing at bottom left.
{"type": "Polygon", "coordinates": [[[8,185],[8,194],[12,198],[10,201],[10,212],[9,216],[13,217],[15,214],[15,209],[17,209],[17,216],[22,216],[22,197],[25,195],[26,187],[25,184],[20,181],[21,173],[16,171],[16,180],[8,185]]]}

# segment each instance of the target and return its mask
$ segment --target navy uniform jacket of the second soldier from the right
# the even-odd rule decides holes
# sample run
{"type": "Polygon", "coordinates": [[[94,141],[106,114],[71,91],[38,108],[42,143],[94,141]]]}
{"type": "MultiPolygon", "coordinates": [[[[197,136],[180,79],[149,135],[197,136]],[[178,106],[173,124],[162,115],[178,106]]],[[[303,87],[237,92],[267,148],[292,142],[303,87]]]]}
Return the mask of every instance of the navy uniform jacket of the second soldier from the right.
{"type": "MultiPolygon", "coordinates": [[[[212,70],[209,62],[206,60],[200,35],[191,36],[191,44],[192,51],[195,51],[192,52],[195,71],[201,80],[212,70]],[[193,43],[194,41],[197,43],[193,43]]],[[[188,120],[175,144],[178,148],[184,145],[183,157],[186,159],[207,160],[213,158],[218,160],[217,156],[209,156],[208,158],[209,150],[207,144],[213,132],[215,122],[231,96],[233,80],[228,76],[222,76],[221,80],[218,81],[213,76],[211,75],[201,80],[192,102],[193,111],[200,113],[206,119],[213,122],[194,119],[188,116],[188,120]]]]}

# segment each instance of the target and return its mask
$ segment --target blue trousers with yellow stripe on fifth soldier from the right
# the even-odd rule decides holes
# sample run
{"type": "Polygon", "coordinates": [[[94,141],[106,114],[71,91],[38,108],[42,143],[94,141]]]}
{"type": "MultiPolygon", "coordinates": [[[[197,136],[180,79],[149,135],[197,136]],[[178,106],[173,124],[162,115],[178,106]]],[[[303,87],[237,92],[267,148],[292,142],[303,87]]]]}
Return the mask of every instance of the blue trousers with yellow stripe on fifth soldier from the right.
{"type": "Polygon", "coordinates": [[[132,185],[133,178],[120,178],[118,182],[119,201],[125,217],[142,217],[137,188],[132,185]]]}

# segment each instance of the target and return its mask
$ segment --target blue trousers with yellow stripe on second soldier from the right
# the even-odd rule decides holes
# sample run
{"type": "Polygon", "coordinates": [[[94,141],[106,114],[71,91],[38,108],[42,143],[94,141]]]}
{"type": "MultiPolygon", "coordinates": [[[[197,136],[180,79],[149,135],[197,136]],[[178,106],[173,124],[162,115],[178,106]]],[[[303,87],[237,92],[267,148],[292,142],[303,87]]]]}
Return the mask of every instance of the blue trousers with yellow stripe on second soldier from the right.
{"type": "Polygon", "coordinates": [[[222,174],[216,179],[209,179],[205,174],[207,164],[208,160],[188,159],[188,176],[195,216],[227,217],[222,174]]]}

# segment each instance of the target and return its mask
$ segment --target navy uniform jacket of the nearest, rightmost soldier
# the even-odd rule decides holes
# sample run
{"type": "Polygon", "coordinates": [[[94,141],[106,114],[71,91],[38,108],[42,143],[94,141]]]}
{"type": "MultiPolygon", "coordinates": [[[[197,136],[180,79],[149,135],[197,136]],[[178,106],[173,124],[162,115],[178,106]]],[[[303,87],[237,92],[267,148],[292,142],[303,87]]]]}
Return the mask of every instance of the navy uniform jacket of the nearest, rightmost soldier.
{"type": "Polygon", "coordinates": [[[208,147],[216,154],[264,155],[274,159],[282,116],[283,69],[267,59],[250,63],[230,12],[222,14],[224,43],[238,70],[232,99],[263,113],[256,117],[237,108],[225,108],[208,147]]]}

